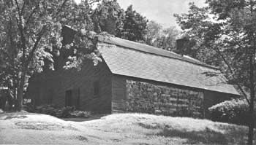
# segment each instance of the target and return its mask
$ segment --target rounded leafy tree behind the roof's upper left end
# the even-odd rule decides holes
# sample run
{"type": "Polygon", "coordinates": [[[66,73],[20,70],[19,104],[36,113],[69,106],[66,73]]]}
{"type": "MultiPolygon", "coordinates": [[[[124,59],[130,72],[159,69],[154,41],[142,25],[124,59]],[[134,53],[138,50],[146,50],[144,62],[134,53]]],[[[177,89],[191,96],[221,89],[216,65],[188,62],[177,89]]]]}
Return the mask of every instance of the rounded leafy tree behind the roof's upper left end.
{"type": "Polygon", "coordinates": [[[116,0],[103,0],[94,9],[91,17],[95,32],[106,31],[108,34],[116,35],[116,31],[123,27],[124,9],[121,9],[116,0]]]}

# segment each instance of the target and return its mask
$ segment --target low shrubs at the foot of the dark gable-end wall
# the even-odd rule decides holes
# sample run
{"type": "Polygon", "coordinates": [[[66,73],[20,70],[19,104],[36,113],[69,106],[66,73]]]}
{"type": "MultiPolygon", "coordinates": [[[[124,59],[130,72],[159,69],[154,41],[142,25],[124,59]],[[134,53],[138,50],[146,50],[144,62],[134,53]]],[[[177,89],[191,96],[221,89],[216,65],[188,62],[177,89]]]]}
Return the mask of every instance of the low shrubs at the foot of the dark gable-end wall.
{"type": "Polygon", "coordinates": [[[67,117],[89,117],[91,113],[89,111],[75,110],[74,106],[66,106],[58,108],[53,105],[37,106],[35,112],[41,114],[49,114],[54,117],[67,118],[67,117]]]}

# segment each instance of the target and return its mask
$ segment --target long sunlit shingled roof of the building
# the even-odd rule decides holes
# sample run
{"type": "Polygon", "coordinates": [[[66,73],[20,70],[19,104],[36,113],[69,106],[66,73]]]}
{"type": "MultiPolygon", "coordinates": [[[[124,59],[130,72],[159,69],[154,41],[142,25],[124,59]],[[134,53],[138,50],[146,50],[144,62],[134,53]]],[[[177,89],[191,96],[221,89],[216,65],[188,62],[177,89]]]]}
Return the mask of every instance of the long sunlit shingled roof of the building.
{"type": "Polygon", "coordinates": [[[223,75],[203,74],[216,67],[188,56],[116,37],[99,36],[97,48],[113,74],[239,95],[223,75]]]}

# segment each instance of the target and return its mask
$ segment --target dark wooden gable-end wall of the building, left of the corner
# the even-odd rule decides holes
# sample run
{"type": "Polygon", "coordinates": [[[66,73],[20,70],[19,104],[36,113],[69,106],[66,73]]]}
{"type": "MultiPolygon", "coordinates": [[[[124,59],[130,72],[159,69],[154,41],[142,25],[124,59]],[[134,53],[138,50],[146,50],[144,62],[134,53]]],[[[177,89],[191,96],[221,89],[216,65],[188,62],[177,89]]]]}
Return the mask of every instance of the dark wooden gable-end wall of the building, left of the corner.
{"type": "Polygon", "coordinates": [[[110,113],[111,76],[105,62],[94,66],[91,60],[86,60],[80,71],[72,69],[39,74],[29,84],[27,94],[35,98],[37,106],[51,102],[61,107],[65,106],[66,91],[72,90],[73,106],[87,111],[110,113]],[[97,96],[94,96],[94,82],[99,82],[97,96]],[[54,96],[49,97],[50,94],[54,96]],[[51,101],[48,101],[49,98],[51,101]]]}

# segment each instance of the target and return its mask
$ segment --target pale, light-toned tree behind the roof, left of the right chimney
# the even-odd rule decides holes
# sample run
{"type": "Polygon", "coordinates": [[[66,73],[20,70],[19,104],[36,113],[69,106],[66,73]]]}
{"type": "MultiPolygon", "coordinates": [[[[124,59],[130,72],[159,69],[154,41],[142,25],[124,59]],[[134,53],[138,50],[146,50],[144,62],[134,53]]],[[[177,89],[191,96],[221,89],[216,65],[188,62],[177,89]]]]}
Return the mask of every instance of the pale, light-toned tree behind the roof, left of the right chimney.
{"type": "Polygon", "coordinates": [[[176,38],[179,32],[175,27],[162,28],[159,23],[149,21],[144,36],[146,44],[164,50],[176,50],[176,38]]]}

